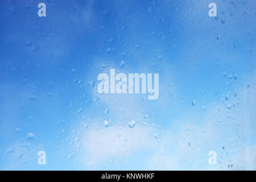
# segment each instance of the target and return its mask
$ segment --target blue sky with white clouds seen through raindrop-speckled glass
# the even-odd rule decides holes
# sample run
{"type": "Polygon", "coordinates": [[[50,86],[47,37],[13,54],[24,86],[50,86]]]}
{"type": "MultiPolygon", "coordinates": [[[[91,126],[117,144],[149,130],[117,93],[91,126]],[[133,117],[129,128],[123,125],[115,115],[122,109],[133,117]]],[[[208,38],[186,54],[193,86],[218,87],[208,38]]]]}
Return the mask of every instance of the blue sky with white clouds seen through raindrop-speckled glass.
{"type": "Polygon", "coordinates": [[[0,4],[1,170],[255,170],[254,1],[0,4]],[[111,68],[159,98],[98,94],[111,68]]]}

